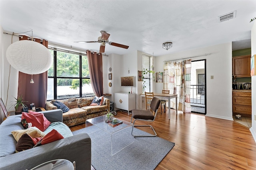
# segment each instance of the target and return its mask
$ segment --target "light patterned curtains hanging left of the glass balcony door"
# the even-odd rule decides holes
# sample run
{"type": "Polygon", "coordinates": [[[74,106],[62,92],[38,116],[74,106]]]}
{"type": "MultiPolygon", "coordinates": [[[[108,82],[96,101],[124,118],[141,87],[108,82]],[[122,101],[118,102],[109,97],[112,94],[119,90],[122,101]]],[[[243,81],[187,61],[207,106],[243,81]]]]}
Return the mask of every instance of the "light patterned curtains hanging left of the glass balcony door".
{"type": "MultiPolygon", "coordinates": [[[[191,112],[190,107],[190,70],[191,60],[180,63],[167,61],[164,63],[164,90],[170,90],[172,94],[178,94],[178,110],[191,112]]],[[[175,100],[170,107],[176,109],[175,100]]]]}

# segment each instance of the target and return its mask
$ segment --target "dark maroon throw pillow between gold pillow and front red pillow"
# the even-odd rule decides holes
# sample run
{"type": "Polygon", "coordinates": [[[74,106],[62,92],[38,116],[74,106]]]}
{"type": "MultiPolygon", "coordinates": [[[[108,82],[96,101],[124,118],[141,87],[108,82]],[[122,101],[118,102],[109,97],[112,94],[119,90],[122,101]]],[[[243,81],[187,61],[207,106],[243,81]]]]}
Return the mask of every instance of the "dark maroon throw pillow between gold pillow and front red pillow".
{"type": "Polygon", "coordinates": [[[16,144],[15,152],[33,148],[42,138],[32,138],[27,133],[24,133],[16,144]]]}

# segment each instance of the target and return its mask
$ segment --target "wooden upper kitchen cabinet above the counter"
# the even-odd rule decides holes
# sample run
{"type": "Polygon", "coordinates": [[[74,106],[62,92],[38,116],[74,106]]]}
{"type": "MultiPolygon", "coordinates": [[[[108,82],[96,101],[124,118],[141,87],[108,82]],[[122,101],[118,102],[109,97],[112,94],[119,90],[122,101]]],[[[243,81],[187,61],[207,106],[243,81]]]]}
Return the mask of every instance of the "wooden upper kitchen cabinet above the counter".
{"type": "Polygon", "coordinates": [[[232,57],[232,74],[236,77],[250,77],[250,55],[232,57]]]}

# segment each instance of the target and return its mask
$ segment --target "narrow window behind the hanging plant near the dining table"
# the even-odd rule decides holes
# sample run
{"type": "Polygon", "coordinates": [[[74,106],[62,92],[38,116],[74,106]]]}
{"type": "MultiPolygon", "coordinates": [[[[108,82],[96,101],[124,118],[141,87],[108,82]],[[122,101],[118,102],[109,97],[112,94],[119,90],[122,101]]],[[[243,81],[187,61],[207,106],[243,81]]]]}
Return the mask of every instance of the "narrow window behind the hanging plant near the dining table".
{"type": "MultiPolygon", "coordinates": [[[[151,63],[150,56],[142,54],[142,74],[143,74],[144,70],[149,70],[150,71],[150,69],[151,69],[150,63],[151,63]]],[[[152,80],[152,78],[151,78],[150,72],[148,72],[146,74],[143,74],[142,90],[144,92],[151,92],[150,91],[151,90],[151,88],[150,88],[151,80],[152,80]]]]}

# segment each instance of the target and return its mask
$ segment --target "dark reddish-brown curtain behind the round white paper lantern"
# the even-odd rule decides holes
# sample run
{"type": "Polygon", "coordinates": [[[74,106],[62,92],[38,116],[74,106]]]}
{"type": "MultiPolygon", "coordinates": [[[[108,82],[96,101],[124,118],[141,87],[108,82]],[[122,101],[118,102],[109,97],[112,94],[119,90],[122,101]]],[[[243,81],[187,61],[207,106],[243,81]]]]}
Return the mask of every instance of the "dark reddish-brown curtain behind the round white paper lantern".
{"type": "MultiPolygon", "coordinates": [[[[20,37],[20,40],[28,40],[28,37],[22,35],[22,37],[20,37]]],[[[48,41],[43,40],[41,42],[40,39],[35,39],[35,41],[41,43],[46,48],[48,48],[48,41]]],[[[30,80],[30,74],[19,72],[18,96],[22,95],[24,100],[28,101],[25,104],[28,106],[29,109],[31,103],[34,103],[35,107],[45,108],[47,97],[48,72],[46,71],[41,74],[33,74],[33,84],[30,83],[30,80]]]]}

